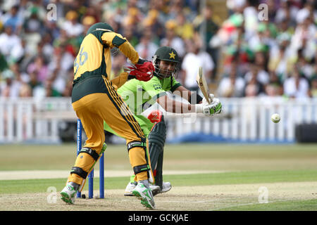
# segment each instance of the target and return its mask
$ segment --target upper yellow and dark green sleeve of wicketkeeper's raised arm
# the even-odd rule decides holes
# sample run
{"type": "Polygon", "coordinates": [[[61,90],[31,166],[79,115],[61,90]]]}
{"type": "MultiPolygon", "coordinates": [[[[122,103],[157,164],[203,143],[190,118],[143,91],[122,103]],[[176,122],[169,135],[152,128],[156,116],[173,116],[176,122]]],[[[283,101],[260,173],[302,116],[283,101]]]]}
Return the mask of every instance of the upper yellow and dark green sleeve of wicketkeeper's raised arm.
{"type": "Polygon", "coordinates": [[[101,36],[101,40],[110,48],[117,47],[133,64],[136,64],[139,60],[139,54],[135,51],[135,48],[133,48],[130,42],[125,39],[125,37],[122,37],[121,34],[117,34],[116,32],[104,32],[101,36]]]}

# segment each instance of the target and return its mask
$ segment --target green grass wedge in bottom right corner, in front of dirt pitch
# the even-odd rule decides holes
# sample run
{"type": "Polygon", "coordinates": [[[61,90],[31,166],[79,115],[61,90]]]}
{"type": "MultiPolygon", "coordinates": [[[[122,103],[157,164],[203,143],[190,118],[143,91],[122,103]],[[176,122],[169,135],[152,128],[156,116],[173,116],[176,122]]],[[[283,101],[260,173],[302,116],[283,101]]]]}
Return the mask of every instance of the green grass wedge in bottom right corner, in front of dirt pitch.
{"type": "Polygon", "coordinates": [[[273,203],[258,203],[226,207],[216,211],[316,211],[317,199],[287,200],[273,203]]]}

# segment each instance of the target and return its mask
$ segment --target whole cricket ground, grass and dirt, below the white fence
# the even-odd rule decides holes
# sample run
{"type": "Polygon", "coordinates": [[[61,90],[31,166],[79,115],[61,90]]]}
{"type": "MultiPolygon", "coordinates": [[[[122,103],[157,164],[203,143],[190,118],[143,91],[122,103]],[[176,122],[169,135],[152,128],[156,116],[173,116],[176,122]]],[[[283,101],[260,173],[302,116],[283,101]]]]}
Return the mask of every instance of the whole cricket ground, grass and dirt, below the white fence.
{"type": "MultiPolygon", "coordinates": [[[[0,158],[0,173],[68,171],[75,162],[75,149],[75,144],[3,145],[0,153],[6,157],[0,158]]],[[[156,195],[157,210],[317,210],[316,144],[166,145],[163,168],[164,180],[173,188],[156,195]],[[167,173],[175,170],[184,174],[167,173]]],[[[125,146],[108,146],[105,169],[131,169],[125,146]]],[[[78,199],[71,206],[58,195],[66,179],[2,179],[0,210],[145,210],[136,198],[123,196],[128,176],[106,176],[105,199],[78,199]]],[[[95,178],[94,195],[98,188],[95,178]]],[[[87,185],[83,193],[87,195],[87,185]]]]}

